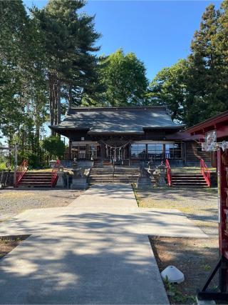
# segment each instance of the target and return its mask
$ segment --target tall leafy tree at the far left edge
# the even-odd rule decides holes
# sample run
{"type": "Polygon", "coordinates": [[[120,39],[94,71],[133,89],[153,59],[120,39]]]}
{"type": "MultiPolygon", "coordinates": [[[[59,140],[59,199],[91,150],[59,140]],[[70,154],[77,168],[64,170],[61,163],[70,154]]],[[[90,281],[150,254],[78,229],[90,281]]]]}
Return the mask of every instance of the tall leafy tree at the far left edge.
{"type": "Polygon", "coordinates": [[[22,1],[0,3],[0,128],[9,144],[38,154],[46,121],[41,35],[22,1]]]}

